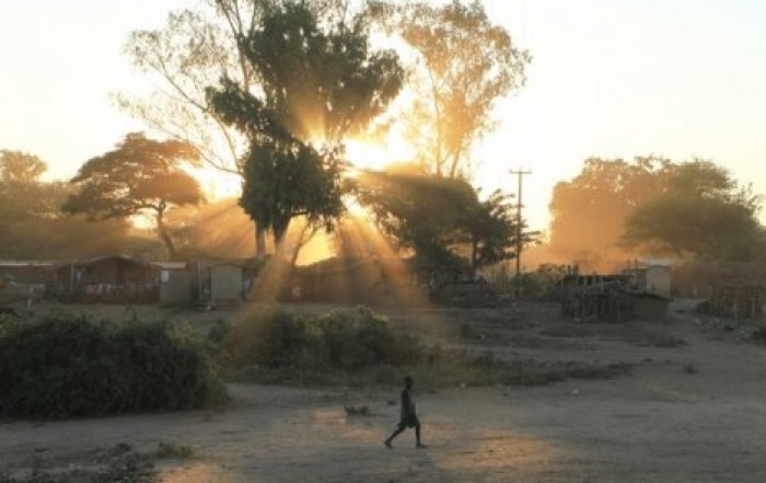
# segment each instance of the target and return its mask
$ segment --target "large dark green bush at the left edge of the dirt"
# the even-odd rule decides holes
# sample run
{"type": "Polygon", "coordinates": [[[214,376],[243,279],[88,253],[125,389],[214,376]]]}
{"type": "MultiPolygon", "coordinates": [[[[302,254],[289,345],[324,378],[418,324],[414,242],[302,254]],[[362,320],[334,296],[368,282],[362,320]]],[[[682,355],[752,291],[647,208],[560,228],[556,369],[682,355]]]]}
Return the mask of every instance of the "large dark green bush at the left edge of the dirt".
{"type": "Polygon", "coordinates": [[[0,414],[71,417],[187,410],[225,392],[206,342],[166,322],[55,314],[0,325],[0,414]]]}

